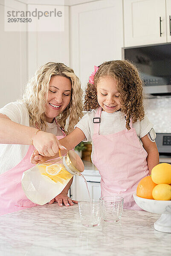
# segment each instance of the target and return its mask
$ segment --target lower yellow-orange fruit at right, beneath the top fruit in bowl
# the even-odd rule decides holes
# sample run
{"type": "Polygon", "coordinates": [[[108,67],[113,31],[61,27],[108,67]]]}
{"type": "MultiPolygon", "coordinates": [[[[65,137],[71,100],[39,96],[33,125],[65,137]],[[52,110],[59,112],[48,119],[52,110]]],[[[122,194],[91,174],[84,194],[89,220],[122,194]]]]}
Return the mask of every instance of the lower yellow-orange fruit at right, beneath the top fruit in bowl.
{"type": "Polygon", "coordinates": [[[171,186],[168,184],[158,184],[154,187],[152,195],[155,200],[171,200],[171,186]]]}

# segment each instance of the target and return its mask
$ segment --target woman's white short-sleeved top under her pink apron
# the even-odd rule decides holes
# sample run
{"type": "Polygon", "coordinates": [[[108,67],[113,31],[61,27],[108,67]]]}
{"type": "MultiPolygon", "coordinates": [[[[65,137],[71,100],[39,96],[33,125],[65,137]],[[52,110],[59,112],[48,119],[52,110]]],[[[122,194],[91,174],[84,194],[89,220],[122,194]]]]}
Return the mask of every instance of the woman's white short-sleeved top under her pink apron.
{"type": "MultiPolygon", "coordinates": [[[[0,113],[8,116],[9,119],[20,125],[29,126],[29,112],[21,102],[10,102],[3,108],[0,108],[0,113]]],[[[55,120],[53,123],[47,123],[47,125],[46,132],[52,133],[55,136],[63,135],[55,120]]],[[[28,149],[29,145],[0,144],[0,174],[20,163],[28,149]]]]}

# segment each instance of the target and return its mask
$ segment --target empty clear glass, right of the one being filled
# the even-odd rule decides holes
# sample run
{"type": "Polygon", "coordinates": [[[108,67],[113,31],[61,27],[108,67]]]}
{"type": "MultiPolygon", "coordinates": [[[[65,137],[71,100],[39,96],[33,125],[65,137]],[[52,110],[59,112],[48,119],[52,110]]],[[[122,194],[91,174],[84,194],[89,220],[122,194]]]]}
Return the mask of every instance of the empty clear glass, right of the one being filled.
{"type": "Polygon", "coordinates": [[[124,198],[121,196],[104,196],[100,198],[102,202],[102,212],[104,221],[120,221],[124,198]]]}

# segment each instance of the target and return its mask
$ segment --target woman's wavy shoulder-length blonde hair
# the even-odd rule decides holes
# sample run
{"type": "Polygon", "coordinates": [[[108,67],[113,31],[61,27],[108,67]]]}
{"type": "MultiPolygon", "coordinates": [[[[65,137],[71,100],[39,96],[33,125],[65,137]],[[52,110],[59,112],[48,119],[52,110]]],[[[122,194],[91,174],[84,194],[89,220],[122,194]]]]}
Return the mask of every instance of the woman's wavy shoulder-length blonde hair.
{"type": "Polygon", "coordinates": [[[71,100],[67,108],[56,117],[59,126],[65,130],[66,120],[69,124],[66,134],[74,130],[74,125],[83,116],[82,114],[82,90],[81,83],[74,71],[63,63],[48,62],[41,66],[32,76],[26,86],[22,102],[29,111],[30,125],[42,128],[46,124],[45,109],[49,90],[49,82],[52,76],[63,76],[71,81],[71,100]]]}

